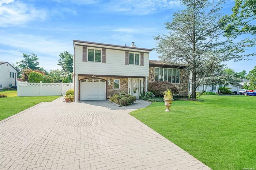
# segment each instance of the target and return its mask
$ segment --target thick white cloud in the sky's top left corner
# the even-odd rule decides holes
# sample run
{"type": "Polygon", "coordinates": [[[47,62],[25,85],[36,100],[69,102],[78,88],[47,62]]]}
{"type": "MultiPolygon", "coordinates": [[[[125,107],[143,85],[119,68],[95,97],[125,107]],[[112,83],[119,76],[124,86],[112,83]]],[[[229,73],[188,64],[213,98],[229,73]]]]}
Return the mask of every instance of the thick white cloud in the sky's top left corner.
{"type": "Polygon", "coordinates": [[[33,20],[44,20],[46,10],[35,8],[33,5],[24,4],[14,0],[0,2],[1,27],[24,25],[33,20]]]}

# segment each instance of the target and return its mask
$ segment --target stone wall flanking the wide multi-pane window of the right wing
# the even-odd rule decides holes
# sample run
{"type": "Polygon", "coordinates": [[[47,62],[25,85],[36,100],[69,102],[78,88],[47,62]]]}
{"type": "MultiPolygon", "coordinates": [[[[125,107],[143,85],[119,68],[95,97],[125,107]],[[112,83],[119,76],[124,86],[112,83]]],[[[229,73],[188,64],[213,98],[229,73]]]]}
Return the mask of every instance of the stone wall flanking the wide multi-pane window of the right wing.
{"type": "MultiPolygon", "coordinates": [[[[155,67],[149,67],[148,83],[155,81],[155,67]]],[[[178,96],[188,96],[188,73],[180,69],[180,83],[173,83],[179,90],[178,96]]]]}

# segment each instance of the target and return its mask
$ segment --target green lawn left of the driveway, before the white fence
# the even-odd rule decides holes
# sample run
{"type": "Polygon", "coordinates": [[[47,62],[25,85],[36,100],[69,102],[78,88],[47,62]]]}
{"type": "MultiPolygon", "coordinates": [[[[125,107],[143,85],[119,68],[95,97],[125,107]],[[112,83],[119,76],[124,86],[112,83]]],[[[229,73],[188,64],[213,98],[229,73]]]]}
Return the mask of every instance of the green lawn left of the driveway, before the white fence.
{"type": "Polygon", "coordinates": [[[41,102],[52,102],[60,96],[17,96],[16,90],[0,91],[0,94],[6,94],[7,98],[0,98],[0,120],[8,118],[18,112],[21,112],[35,104],[41,102]]]}

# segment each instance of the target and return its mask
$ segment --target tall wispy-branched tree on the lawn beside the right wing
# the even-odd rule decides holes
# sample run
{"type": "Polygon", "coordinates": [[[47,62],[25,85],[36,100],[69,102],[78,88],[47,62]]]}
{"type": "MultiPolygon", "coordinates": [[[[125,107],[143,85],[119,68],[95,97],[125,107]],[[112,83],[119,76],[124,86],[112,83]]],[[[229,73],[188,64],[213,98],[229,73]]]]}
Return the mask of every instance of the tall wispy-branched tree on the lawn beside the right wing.
{"type": "Polygon", "coordinates": [[[155,37],[154,49],[159,58],[169,64],[186,66],[192,72],[192,98],[202,84],[218,84],[225,75],[225,62],[241,61],[253,54],[244,54],[246,42],[233,43],[223,39],[222,29],[227,20],[222,18],[224,0],[181,0],[185,6],[175,12],[172,22],[165,23],[169,34],[155,37]]]}

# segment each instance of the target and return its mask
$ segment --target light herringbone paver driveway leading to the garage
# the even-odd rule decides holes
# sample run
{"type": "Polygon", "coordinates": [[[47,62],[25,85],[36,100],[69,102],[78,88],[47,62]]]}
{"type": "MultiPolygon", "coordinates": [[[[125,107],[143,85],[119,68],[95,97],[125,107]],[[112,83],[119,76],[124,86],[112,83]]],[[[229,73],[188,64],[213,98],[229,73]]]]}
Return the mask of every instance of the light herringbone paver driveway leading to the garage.
{"type": "Polygon", "coordinates": [[[108,101],[41,103],[0,122],[0,169],[210,169],[108,101]]]}

